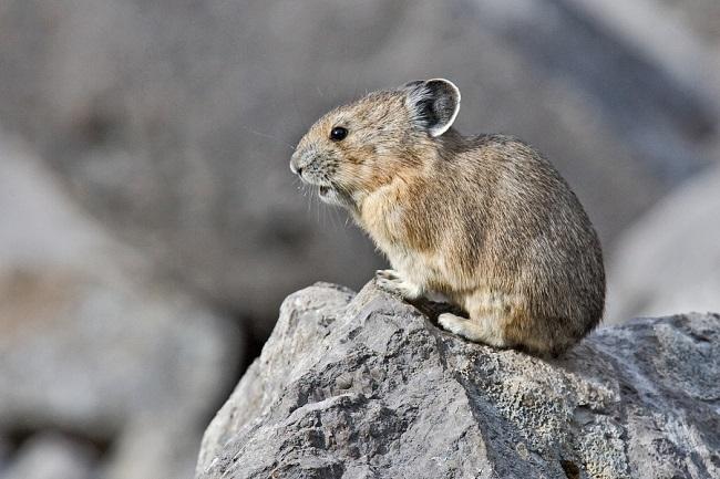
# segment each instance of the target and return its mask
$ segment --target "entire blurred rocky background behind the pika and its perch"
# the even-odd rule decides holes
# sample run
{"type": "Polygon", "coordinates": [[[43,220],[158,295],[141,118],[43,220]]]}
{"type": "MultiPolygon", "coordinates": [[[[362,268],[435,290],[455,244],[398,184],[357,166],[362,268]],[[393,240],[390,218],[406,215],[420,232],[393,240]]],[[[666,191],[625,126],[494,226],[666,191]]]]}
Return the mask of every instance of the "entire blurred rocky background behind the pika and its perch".
{"type": "Polygon", "coordinates": [[[280,301],[383,264],[292,145],[433,76],[574,186],[608,322],[720,310],[716,1],[0,0],[0,478],[192,477],[280,301]]]}

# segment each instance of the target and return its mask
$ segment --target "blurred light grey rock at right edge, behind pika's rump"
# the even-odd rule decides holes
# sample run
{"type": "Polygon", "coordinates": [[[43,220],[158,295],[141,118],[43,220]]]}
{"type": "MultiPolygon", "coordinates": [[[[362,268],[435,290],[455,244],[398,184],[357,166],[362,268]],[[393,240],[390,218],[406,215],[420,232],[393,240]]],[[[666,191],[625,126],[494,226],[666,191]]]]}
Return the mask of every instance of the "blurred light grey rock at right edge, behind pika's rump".
{"type": "Polygon", "coordinates": [[[693,178],[617,241],[606,317],[720,311],[720,166],[693,178]]]}

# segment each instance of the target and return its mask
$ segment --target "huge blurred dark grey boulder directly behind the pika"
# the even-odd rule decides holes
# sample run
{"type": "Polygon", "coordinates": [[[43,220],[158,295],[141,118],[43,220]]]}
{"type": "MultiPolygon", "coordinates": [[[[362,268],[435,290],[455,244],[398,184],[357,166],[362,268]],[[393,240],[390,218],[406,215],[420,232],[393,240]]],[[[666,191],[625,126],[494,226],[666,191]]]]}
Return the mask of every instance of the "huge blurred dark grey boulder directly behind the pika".
{"type": "Polygon", "coordinates": [[[360,287],[381,264],[288,169],[310,123],[366,90],[452,79],[460,129],[539,147],[605,243],[708,162],[706,92],[572,3],[6,0],[0,117],[96,218],[264,337],[309,278],[360,287]]]}

